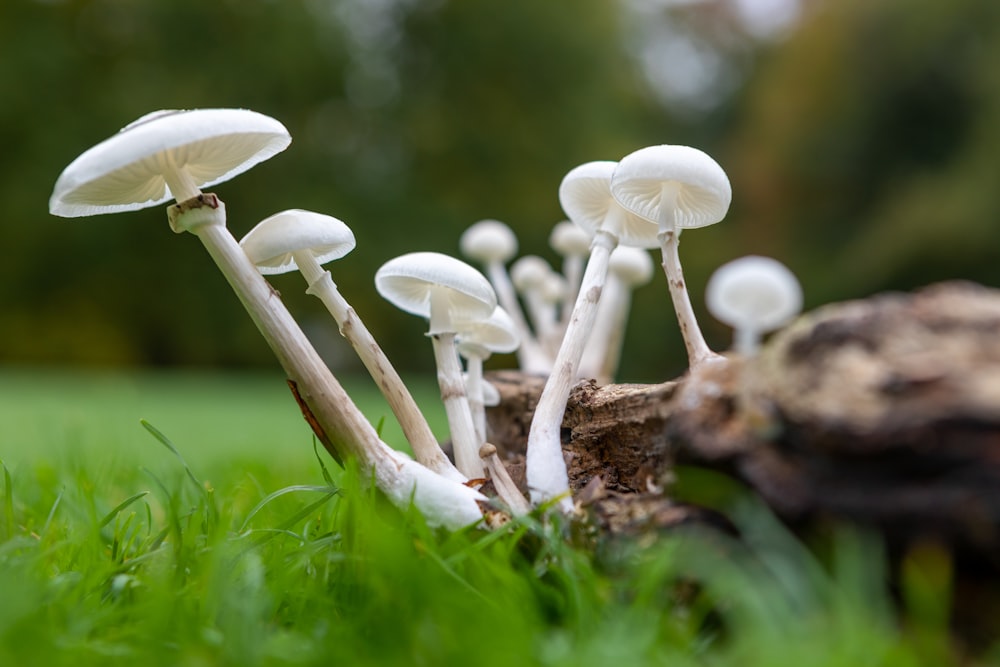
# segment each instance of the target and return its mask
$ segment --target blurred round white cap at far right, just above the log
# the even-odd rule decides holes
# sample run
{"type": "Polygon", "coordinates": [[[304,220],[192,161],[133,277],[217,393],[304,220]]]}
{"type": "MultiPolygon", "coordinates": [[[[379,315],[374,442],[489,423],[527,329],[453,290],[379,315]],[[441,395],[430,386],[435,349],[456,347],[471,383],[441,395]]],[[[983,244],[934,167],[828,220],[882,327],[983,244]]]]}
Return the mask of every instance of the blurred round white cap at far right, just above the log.
{"type": "Polygon", "coordinates": [[[781,262],[748,255],[716,269],[705,289],[705,305],[735,329],[772,331],[802,309],[802,287],[781,262]]]}

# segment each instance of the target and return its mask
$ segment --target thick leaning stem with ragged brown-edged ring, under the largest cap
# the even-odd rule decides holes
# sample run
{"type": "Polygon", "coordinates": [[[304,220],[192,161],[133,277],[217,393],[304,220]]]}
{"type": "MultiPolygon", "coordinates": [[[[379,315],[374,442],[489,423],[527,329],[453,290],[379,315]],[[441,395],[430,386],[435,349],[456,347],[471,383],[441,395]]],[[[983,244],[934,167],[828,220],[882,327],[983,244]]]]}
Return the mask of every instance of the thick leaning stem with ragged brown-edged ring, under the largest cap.
{"type": "Polygon", "coordinates": [[[394,504],[406,507],[412,502],[431,524],[454,529],[482,518],[477,504],[481,494],[441,476],[431,477],[430,471],[412,461],[407,464],[408,459],[379,439],[226,228],[225,206],[215,195],[170,206],[167,214],[171,229],[197,236],[215,260],[308,408],[317,437],[335,458],[357,457],[363,474],[371,475],[394,504]]]}

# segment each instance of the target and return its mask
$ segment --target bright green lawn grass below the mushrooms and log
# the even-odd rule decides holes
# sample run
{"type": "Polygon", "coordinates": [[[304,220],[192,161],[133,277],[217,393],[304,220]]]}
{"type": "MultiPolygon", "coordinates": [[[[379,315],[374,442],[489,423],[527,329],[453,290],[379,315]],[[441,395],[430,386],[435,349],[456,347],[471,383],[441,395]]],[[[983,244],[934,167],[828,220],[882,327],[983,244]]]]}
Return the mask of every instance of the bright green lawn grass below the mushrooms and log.
{"type": "Polygon", "coordinates": [[[0,460],[0,665],[954,659],[935,554],[900,619],[875,540],[817,558],[745,497],[739,542],[436,532],[315,451],[280,377],[3,372],[0,460]]]}

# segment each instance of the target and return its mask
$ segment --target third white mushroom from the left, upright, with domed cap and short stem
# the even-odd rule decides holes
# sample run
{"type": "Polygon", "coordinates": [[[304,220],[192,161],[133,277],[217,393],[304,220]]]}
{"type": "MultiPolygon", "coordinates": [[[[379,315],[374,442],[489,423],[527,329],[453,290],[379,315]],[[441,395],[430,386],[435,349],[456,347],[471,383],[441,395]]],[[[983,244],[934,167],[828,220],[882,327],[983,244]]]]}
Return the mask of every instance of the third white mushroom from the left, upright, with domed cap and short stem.
{"type": "Polygon", "coordinates": [[[383,264],[375,288],[397,308],[428,318],[455,465],[470,479],[483,476],[462,367],[455,350],[458,322],[489,317],[497,306],[489,281],[465,262],[436,252],[414,252],[383,264]]]}

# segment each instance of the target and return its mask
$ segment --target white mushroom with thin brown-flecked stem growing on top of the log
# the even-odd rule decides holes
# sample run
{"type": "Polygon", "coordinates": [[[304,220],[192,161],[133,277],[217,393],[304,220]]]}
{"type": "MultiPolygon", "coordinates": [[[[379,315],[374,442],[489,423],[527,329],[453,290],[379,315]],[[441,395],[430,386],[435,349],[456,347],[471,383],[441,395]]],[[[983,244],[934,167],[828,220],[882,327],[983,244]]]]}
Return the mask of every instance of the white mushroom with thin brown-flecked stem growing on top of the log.
{"type": "Polygon", "coordinates": [[[691,367],[722,357],[709,349],[691,307],[677,246],[684,229],[715,224],[732,200],[729,178],[707,154],[689,146],[649,146],[621,159],[611,192],[622,206],[659,228],[663,271],[691,367]]]}

